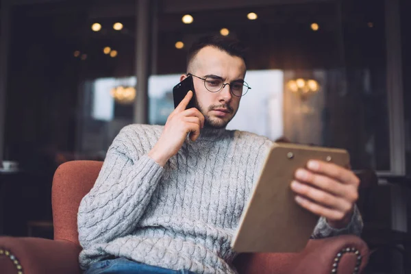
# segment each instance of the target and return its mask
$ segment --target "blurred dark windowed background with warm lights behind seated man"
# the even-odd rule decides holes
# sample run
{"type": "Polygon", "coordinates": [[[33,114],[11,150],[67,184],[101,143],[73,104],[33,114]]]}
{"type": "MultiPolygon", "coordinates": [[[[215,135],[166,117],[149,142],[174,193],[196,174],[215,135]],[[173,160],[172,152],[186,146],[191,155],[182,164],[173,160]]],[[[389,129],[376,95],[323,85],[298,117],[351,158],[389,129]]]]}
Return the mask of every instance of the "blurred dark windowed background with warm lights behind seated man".
{"type": "Polygon", "coordinates": [[[347,149],[378,175],[372,235],[393,234],[370,236],[388,258],[370,271],[407,269],[408,0],[0,3],[0,160],[18,163],[0,170],[1,234],[49,237],[55,169],[103,160],[125,125],[164,125],[188,48],[216,34],[249,47],[252,89],[228,129],[347,149]]]}

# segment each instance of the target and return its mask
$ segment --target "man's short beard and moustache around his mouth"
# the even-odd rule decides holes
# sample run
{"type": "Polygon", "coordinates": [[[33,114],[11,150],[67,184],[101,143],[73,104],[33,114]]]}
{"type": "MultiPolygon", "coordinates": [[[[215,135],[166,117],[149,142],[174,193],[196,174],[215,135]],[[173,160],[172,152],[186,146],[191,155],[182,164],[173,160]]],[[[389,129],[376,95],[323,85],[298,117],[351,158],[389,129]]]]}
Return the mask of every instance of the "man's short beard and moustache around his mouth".
{"type": "Polygon", "coordinates": [[[227,127],[227,124],[232,121],[234,116],[237,113],[237,110],[234,111],[234,108],[232,108],[231,105],[227,103],[222,103],[220,105],[210,105],[208,108],[204,108],[200,103],[197,101],[197,98],[195,99],[195,107],[197,110],[201,112],[201,114],[204,115],[204,127],[211,128],[211,129],[223,129],[227,127]],[[212,117],[208,115],[208,113],[212,110],[215,110],[217,108],[224,108],[229,111],[229,115],[224,118],[219,118],[219,117],[212,117]]]}

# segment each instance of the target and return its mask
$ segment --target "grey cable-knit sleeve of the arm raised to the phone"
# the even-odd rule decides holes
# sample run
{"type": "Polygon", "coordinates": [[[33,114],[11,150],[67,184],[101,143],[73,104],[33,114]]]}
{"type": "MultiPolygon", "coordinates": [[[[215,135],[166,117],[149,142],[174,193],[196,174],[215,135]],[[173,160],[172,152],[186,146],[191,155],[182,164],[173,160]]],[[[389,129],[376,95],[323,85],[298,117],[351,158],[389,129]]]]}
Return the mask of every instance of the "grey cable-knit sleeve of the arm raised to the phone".
{"type": "Polygon", "coordinates": [[[127,155],[124,139],[114,140],[95,186],[80,203],[77,225],[83,248],[132,232],[160,182],[162,166],[146,154],[127,155]]]}

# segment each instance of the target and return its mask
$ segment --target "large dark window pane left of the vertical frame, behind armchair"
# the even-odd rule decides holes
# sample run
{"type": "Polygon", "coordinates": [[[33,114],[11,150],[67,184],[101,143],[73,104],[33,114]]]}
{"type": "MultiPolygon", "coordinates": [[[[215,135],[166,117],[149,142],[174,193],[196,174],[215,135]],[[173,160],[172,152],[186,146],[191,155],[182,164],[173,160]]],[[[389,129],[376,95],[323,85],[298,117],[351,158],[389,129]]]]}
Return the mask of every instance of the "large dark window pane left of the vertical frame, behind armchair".
{"type": "Polygon", "coordinates": [[[52,175],[66,160],[103,157],[112,136],[132,122],[132,105],[110,99],[110,91],[136,83],[125,78],[135,74],[135,10],[134,0],[14,6],[5,129],[10,158],[34,173],[45,170],[36,164],[47,159],[52,175]]]}

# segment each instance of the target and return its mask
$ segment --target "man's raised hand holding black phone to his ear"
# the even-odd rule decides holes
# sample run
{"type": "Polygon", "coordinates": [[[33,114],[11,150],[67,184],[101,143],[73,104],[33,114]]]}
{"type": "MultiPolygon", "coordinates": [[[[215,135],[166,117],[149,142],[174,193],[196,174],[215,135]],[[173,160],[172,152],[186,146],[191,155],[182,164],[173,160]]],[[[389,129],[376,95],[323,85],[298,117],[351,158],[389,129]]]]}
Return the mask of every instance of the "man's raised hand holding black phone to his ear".
{"type": "Polygon", "coordinates": [[[187,95],[177,105],[177,108],[171,112],[158,142],[148,154],[160,166],[164,166],[173,155],[177,154],[182,148],[187,134],[192,141],[197,140],[200,136],[200,130],[204,127],[203,114],[197,108],[186,109],[192,96],[192,90],[188,90],[187,95]]]}

